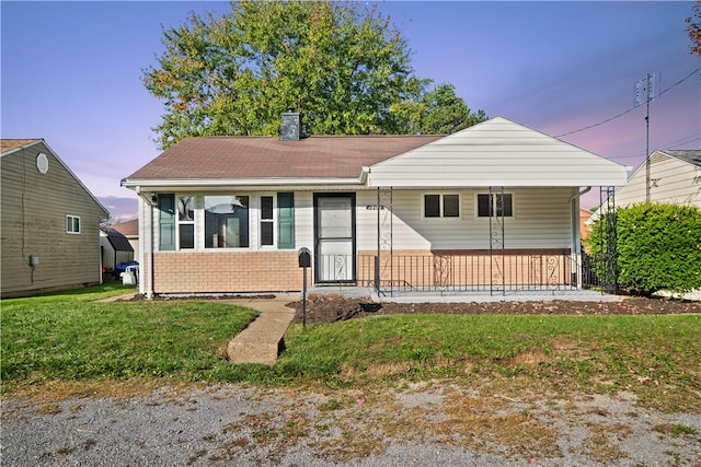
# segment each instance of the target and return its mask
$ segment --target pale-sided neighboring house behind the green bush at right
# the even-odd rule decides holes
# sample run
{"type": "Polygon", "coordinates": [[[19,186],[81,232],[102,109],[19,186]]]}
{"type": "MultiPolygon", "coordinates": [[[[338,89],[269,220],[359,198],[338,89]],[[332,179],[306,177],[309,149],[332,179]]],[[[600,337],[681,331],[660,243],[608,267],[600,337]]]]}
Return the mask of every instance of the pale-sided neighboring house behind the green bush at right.
{"type": "Polygon", "coordinates": [[[616,207],[650,200],[689,205],[701,208],[701,151],[657,150],[643,162],[628,179],[624,187],[616,191],[616,207]]]}

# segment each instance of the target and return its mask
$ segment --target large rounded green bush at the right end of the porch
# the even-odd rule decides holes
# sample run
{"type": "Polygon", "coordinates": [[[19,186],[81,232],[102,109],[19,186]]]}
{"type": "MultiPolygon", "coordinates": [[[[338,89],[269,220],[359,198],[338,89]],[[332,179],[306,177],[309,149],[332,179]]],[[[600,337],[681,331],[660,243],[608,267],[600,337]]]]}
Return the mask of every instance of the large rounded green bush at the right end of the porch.
{"type": "Polygon", "coordinates": [[[691,206],[644,202],[605,214],[588,240],[599,277],[608,277],[606,250],[617,255],[618,285],[650,296],[659,290],[683,293],[701,288],[701,210],[691,206]],[[616,245],[607,222],[616,221],[616,245]],[[612,241],[612,238],[611,238],[612,241]]]}

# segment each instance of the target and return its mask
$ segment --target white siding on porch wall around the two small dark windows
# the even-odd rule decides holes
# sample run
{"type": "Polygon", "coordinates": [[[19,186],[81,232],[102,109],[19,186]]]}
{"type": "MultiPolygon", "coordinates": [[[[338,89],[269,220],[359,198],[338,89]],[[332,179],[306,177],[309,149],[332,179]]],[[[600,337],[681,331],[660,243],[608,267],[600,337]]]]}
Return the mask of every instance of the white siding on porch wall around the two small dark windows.
{"type": "MultiPolygon", "coordinates": [[[[514,217],[505,218],[506,248],[570,248],[572,245],[571,188],[505,188],[514,196],[514,217]]],[[[444,190],[459,194],[459,219],[426,219],[423,195],[435,190],[400,190],[392,194],[394,249],[489,249],[490,223],[475,214],[480,189],[444,190]]],[[[376,191],[360,191],[357,199],[359,250],[377,249],[376,191]]],[[[381,212],[384,215],[384,212],[381,212]]]]}

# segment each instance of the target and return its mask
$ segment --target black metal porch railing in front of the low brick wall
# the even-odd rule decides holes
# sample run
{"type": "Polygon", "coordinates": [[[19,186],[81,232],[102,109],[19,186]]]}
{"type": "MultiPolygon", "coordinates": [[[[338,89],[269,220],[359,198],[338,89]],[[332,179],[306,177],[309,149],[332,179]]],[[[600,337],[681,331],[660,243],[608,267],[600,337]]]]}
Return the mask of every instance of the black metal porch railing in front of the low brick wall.
{"type": "Polygon", "coordinates": [[[572,254],[361,254],[357,282],[378,291],[567,290],[586,285],[578,260],[572,254]]]}

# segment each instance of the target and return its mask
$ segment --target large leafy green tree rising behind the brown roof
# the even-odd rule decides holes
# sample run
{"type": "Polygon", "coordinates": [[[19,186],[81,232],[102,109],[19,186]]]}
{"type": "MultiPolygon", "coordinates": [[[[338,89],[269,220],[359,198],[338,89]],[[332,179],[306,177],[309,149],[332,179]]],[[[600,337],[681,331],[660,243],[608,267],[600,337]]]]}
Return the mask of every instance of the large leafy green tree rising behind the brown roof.
{"type": "MultiPolygon", "coordinates": [[[[311,135],[443,128],[423,128],[432,81],[414,74],[406,40],[376,5],[243,1],[219,17],[193,13],[162,42],[143,81],[165,102],[154,128],[163,149],[186,136],[278,135],[288,109],[303,115],[311,135]]],[[[458,113],[450,119],[484,119],[450,91],[458,113]]]]}

